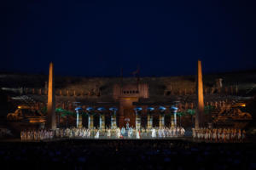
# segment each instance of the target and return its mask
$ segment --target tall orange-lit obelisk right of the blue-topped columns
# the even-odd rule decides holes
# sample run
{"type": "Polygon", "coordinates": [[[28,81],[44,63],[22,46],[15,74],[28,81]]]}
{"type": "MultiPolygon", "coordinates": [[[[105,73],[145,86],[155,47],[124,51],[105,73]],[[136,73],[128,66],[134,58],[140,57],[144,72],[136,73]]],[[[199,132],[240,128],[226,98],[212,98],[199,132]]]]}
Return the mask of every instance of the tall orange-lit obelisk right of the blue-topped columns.
{"type": "Polygon", "coordinates": [[[203,114],[204,114],[204,94],[203,94],[203,82],[201,72],[201,60],[197,61],[197,111],[195,112],[195,129],[203,126],[203,114]]]}

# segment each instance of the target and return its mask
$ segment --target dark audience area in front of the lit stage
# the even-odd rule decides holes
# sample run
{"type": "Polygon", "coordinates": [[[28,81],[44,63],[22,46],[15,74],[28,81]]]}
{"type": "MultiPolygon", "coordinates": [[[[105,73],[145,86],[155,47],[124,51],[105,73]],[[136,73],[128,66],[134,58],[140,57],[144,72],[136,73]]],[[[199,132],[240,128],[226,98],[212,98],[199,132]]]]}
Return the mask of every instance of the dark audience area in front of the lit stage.
{"type": "Polygon", "coordinates": [[[2,142],[0,162],[3,169],[256,169],[255,145],[183,140],[2,142]]]}

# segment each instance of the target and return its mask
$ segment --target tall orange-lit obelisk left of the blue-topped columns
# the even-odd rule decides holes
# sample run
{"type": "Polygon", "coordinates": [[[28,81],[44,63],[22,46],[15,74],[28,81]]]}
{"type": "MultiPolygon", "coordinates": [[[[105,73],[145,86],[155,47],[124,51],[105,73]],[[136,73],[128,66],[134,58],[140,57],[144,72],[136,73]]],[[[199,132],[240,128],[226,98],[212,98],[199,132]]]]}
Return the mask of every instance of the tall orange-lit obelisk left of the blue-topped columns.
{"type": "Polygon", "coordinates": [[[49,82],[48,82],[48,103],[46,127],[49,129],[56,128],[55,121],[55,83],[54,83],[54,67],[53,63],[49,63],[49,82]]]}

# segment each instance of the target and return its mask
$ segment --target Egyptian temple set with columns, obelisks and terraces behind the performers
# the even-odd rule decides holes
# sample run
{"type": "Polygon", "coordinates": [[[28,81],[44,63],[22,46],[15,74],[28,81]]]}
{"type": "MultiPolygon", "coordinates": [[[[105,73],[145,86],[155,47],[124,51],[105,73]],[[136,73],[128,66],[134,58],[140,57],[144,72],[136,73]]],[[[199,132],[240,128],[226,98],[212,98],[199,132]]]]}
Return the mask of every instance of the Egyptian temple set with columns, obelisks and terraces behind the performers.
{"type": "Polygon", "coordinates": [[[245,126],[252,116],[242,111],[250,98],[243,77],[202,72],[198,60],[194,76],[55,77],[50,63],[49,77],[5,75],[1,87],[16,108],[7,118],[20,126],[245,126]]]}

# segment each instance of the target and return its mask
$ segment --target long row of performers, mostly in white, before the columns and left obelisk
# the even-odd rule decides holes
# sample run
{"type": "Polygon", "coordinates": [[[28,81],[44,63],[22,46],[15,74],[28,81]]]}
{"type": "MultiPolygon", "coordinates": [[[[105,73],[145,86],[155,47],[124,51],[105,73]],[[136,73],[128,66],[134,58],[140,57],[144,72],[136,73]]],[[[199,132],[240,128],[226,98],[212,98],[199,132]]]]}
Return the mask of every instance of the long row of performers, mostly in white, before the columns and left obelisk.
{"type": "Polygon", "coordinates": [[[82,139],[141,139],[141,138],[152,138],[152,139],[163,139],[170,137],[181,137],[184,136],[185,129],[183,127],[162,127],[162,128],[142,128],[135,129],[129,128],[107,128],[107,129],[96,129],[96,128],[57,128],[55,130],[22,130],[20,132],[21,140],[44,140],[54,138],[82,138],[82,139]]]}

